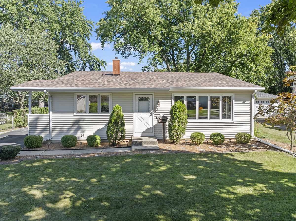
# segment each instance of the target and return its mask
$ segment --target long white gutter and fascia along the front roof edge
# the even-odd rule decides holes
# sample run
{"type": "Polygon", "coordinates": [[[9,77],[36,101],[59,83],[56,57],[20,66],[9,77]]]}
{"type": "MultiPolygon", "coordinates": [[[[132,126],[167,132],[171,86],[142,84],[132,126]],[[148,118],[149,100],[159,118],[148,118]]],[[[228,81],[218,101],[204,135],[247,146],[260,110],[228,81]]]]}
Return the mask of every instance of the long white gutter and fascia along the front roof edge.
{"type": "Polygon", "coordinates": [[[192,90],[258,90],[263,87],[167,87],[167,88],[56,88],[56,87],[10,87],[12,91],[75,91],[75,92],[133,92],[133,91],[192,91],[192,90]]]}

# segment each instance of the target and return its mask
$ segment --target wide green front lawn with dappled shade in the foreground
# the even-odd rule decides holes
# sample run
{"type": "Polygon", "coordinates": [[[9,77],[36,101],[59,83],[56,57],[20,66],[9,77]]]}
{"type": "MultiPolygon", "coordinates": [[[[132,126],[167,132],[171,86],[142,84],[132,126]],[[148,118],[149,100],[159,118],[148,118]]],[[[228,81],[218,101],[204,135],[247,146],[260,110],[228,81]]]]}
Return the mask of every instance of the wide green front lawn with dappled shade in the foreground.
{"type": "Polygon", "coordinates": [[[296,220],[296,161],[275,151],[38,159],[0,170],[0,220],[296,220]]]}

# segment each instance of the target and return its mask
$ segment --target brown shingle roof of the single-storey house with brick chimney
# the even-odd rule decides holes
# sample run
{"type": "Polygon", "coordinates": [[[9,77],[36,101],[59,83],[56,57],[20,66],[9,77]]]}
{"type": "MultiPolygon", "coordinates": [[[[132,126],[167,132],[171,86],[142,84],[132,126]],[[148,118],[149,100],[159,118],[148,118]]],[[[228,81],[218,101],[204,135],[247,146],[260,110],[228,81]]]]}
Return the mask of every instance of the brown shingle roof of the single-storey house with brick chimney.
{"type": "Polygon", "coordinates": [[[256,88],[255,84],[231,78],[219,73],[190,72],[121,72],[120,76],[112,76],[112,71],[74,71],[53,80],[33,80],[12,89],[43,88],[256,88]]]}

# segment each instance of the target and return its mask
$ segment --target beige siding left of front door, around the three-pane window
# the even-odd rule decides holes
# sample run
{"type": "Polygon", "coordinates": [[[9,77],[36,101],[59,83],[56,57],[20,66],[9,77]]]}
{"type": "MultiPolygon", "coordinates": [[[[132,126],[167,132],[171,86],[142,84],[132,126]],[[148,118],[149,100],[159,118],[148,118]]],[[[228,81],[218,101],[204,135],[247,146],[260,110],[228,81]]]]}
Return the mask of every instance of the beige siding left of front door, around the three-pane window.
{"type": "MultiPolygon", "coordinates": [[[[88,135],[93,134],[99,135],[101,140],[107,140],[106,128],[110,114],[74,114],[74,92],[51,92],[51,95],[52,140],[61,140],[62,136],[68,134],[77,136],[78,140],[85,140],[88,135]]],[[[133,93],[112,93],[110,111],[116,104],[122,107],[126,122],[126,139],[130,139],[133,135],[133,93]]]]}

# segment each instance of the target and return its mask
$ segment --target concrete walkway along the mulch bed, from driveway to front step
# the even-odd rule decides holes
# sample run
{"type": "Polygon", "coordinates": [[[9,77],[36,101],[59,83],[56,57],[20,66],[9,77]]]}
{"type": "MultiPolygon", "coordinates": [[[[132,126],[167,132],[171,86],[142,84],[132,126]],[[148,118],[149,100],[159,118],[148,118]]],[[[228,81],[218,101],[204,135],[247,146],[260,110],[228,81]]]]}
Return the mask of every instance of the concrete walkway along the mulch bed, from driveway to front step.
{"type": "Polygon", "coordinates": [[[21,150],[18,156],[131,152],[131,147],[81,150],[21,150]]]}

